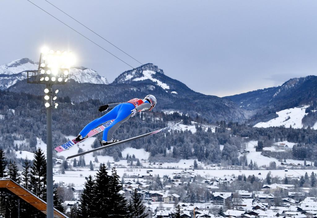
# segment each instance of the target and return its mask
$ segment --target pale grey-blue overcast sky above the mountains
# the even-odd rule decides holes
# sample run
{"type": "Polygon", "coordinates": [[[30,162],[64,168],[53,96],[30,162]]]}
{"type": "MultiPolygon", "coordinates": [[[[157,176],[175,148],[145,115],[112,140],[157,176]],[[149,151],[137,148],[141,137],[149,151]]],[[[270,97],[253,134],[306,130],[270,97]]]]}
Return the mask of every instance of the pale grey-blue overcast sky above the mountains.
{"type": "MultiPolygon", "coordinates": [[[[133,67],[140,64],[44,0],[30,0],[133,67]]],[[[226,96],[316,75],[317,1],[49,0],[142,63],[191,89],[226,96]]],[[[0,1],[0,63],[69,49],[112,82],[129,70],[27,0],[0,1]]]]}

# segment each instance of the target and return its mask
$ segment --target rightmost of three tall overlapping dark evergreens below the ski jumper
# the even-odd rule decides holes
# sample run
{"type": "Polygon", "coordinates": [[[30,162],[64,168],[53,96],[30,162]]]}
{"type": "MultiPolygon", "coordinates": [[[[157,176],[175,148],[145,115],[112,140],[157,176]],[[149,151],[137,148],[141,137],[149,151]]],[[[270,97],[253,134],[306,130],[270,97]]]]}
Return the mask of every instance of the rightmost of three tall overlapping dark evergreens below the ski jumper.
{"type": "Polygon", "coordinates": [[[115,168],[112,168],[112,176],[109,180],[110,204],[109,204],[109,217],[126,218],[129,215],[128,204],[124,196],[119,192],[122,186],[119,182],[119,176],[115,168]]]}

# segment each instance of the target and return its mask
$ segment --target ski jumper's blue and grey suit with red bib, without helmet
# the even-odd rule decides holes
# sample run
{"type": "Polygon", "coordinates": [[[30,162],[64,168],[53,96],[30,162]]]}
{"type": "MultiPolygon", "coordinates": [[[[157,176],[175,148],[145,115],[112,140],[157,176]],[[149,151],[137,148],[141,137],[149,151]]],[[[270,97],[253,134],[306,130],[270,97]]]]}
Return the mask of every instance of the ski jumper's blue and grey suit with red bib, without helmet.
{"type": "Polygon", "coordinates": [[[135,108],[137,111],[145,111],[151,108],[151,104],[148,100],[136,98],[125,103],[108,104],[108,106],[113,109],[102,117],[88,123],[79,134],[85,137],[90,130],[96,128],[102,123],[113,120],[112,124],[103,131],[102,135],[102,140],[110,141],[114,131],[116,131],[122,123],[126,122],[131,117],[131,110],[135,108]]]}

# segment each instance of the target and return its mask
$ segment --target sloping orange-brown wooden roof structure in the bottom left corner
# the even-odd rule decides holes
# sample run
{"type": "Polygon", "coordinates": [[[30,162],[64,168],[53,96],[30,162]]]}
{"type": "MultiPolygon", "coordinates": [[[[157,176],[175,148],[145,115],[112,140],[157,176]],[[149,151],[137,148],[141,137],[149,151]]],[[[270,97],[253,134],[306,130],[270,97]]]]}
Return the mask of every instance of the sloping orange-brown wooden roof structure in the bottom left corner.
{"type": "MultiPolygon", "coordinates": [[[[0,178],[0,189],[9,190],[11,193],[13,193],[13,195],[20,197],[25,202],[46,214],[46,202],[10,178],[0,178]]],[[[68,216],[54,208],[54,218],[68,218],[68,216]]]]}

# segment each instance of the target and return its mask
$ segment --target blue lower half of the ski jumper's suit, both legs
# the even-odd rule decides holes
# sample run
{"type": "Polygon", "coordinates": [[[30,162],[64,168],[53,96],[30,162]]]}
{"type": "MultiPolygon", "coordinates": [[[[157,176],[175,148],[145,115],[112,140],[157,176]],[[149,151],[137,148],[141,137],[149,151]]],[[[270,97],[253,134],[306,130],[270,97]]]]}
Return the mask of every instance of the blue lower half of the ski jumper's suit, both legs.
{"type": "Polygon", "coordinates": [[[110,141],[112,139],[114,131],[116,131],[120,125],[126,122],[131,116],[131,110],[133,110],[135,106],[131,103],[121,103],[115,106],[111,111],[106,113],[100,118],[97,118],[90,123],[88,123],[83,130],[79,133],[83,137],[85,137],[88,132],[102,123],[106,123],[109,120],[114,120],[112,124],[110,124],[104,131],[102,140],[110,141]]]}

